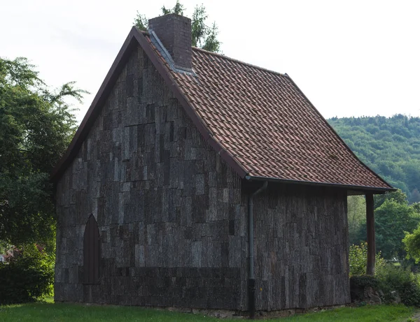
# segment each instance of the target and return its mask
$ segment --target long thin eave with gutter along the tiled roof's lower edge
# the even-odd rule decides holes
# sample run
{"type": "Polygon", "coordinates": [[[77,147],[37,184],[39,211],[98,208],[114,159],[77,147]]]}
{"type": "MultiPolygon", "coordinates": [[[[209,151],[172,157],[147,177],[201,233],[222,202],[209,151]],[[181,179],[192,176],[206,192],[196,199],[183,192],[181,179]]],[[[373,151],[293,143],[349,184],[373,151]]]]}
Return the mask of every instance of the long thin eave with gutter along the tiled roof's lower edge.
{"type": "Polygon", "coordinates": [[[269,182],[277,182],[283,184],[304,184],[307,186],[325,186],[330,188],[339,188],[339,189],[346,189],[352,191],[362,191],[362,192],[370,192],[374,194],[381,194],[391,191],[396,191],[395,188],[383,188],[380,186],[356,186],[352,184],[337,184],[337,183],[329,183],[329,182],[314,182],[314,181],[302,181],[302,180],[289,180],[289,179],[281,179],[276,177],[258,177],[258,176],[251,176],[246,175],[246,180],[256,180],[256,181],[269,181],[269,182]]]}

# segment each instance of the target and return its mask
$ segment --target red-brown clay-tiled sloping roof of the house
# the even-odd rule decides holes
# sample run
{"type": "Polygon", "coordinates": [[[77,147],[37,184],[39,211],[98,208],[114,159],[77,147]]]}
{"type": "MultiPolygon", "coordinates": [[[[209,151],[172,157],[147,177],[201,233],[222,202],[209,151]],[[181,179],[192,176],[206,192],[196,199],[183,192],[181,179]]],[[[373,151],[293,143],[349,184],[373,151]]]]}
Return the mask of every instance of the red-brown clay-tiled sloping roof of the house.
{"type": "Polygon", "coordinates": [[[392,189],[358,160],[288,75],[197,48],[194,74],[179,73],[148,34],[137,29],[130,34],[204,139],[241,177],[392,189]]]}

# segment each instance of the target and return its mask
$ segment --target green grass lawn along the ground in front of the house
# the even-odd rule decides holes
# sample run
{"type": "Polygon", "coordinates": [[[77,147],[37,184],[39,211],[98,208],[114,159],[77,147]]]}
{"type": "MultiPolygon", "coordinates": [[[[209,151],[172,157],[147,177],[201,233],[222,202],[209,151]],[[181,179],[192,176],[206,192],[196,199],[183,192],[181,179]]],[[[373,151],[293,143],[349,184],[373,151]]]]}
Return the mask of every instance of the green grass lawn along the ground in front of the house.
{"type": "MultiPolygon", "coordinates": [[[[334,322],[367,322],[367,321],[398,321],[406,322],[414,310],[402,305],[344,307],[333,311],[296,315],[270,321],[334,321],[334,322]]],[[[36,302],[25,305],[10,305],[0,307],[0,321],[4,322],[167,322],[167,321],[238,321],[214,319],[195,314],[182,314],[167,310],[144,309],[141,307],[117,307],[97,305],[54,304],[52,302],[36,302]]],[[[412,320],[408,320],[412,321],[412,320]]]]}

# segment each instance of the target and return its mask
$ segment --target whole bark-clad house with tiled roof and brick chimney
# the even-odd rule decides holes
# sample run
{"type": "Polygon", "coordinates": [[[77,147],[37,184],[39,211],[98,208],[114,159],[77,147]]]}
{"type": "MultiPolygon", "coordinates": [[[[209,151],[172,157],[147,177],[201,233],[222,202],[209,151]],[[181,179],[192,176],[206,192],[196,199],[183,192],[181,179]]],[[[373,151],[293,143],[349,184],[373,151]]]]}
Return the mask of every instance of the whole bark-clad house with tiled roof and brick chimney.
{"type": "Polygon", "coordinates": [[[128,35],[52,175],[55,300],[349,303],[346,198],[392,187],[288,75],[192,48],[186,17],[149,28],[128,35]]]}

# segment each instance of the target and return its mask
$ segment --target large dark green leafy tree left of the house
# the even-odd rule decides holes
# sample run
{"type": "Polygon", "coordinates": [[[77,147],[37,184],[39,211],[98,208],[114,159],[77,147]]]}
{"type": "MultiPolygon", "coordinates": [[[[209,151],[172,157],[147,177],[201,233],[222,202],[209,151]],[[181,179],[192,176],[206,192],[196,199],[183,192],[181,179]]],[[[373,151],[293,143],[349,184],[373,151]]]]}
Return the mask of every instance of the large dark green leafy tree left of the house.
{"type": "Polygon", "coordinates": [[[65,98],[73,82],[50,91],[27,59],[0,58],[0,240],[15,246],[55,234],[49,175],[76,130],[65,98]]]}

